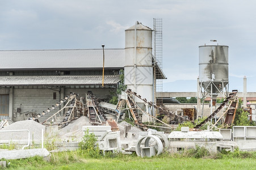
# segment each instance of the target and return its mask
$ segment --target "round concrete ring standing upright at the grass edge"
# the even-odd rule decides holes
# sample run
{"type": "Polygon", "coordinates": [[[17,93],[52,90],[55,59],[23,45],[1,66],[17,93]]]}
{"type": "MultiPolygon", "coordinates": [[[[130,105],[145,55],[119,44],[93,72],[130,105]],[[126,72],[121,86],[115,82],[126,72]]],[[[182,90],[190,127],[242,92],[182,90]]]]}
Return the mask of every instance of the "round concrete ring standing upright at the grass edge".
{"type": "Polygon", "coordinates": [[[156,155],[160,155],[163,151],[163,144],[162,141],[160,140],[160,138],[158,138],[156,135],[148,135],[146,137],[142,137],[141,139],[139,139],[139,141],[137,141],[136,143],[136,154],[137,156],[141,156],[141,142],[145,139],[145,143],[144,143],[144,147],[150,147],[149,146],[149,140],[153,139],[154,141],[156,141],[156,146],[154,146],[157,150],[157,154],[156,155]]]}

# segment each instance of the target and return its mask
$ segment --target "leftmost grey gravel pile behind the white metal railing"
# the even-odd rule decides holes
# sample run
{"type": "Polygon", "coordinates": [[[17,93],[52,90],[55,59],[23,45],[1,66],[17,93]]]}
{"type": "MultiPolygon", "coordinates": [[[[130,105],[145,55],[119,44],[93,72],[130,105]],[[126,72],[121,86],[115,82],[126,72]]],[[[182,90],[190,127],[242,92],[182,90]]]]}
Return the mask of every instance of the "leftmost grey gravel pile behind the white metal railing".
{"type": "MultiPolygon", "coordinates": [[[[24,120],[14,122],[13,124],[6,126],[0,131],[4,130],[29,130],[31,140],[41,140],[42,129],[45,131],[45,126],[41,125],[33,120],[24,120]]],[[[27,140],[27,131],[15,131],[15,132],[1,132],[0,141],[14,141],[14,140],[27,140]]]]}

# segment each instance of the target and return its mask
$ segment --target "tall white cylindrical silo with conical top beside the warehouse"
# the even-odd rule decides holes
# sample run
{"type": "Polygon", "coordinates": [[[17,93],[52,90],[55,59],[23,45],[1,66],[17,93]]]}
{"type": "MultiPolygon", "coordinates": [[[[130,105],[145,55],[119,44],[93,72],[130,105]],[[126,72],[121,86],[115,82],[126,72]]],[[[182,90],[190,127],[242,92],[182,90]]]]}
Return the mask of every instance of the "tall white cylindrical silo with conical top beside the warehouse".
{"type": "Polygon", "coordinates": [[[152,29],[136,22],[125,30],[124,83],[153,101],[152,29]]]}

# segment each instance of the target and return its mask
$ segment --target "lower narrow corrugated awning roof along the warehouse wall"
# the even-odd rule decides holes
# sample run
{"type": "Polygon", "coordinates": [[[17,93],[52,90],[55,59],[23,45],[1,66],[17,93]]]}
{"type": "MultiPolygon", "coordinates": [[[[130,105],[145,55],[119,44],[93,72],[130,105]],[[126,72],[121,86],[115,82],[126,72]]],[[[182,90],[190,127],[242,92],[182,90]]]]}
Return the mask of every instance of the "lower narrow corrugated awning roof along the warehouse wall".
{"type": "MultiPolygon", "coordinates": [[[[104,84],[116,84],[119,75],[104,75],[104,84]]],[[[102,75],[0,76],[0,86],[102,84],[102,75]]]]}

